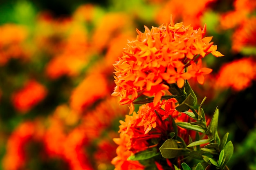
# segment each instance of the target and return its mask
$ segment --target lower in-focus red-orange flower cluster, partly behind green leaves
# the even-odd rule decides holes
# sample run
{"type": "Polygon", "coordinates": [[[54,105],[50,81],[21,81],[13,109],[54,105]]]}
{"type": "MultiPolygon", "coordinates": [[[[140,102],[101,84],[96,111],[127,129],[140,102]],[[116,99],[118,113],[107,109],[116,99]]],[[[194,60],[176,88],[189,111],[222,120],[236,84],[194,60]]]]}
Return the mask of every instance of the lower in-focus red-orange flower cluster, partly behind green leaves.
{"type": "MultiPolygon", "coordinates": [[[[128,157],[139,151],[153,148],[162,144],[168,139],[168,134],[173,132],[172,120],[190,122],[189,116],[179,113],[175,110],[176,99],[163,100],[157,106],[153,103],[144,104],[139,107],[137,113],[126,115],[125,121],[120,121],[120,138],[114,139],[119,145],[117,148],[117,157],[112,160],[115,170],[125,169],[143,169],[144,167],[138,161],[127,160],[128,157]],[[157,140],[154,140],[157,139],[157,140]],[[154,142],[157,141],[157,142],[154,142]]],[[[177,135],[182,137],[185,142],[189,142],[189,130],[178,128],[177,135]]]]}

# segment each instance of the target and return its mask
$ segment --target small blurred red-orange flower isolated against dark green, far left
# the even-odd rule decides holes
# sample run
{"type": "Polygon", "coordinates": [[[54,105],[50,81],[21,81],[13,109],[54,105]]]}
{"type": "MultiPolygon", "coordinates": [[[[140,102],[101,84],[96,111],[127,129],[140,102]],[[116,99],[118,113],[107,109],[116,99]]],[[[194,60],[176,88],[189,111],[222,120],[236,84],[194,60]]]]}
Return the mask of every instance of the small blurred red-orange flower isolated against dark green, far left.
{"type": "Polygon", "coordinates": [[[28,81],[25,86],[13,93],[13,106],[19,112],[26,113],[41,102],[47,95],[47,89],[35,80],[28,81]]]}

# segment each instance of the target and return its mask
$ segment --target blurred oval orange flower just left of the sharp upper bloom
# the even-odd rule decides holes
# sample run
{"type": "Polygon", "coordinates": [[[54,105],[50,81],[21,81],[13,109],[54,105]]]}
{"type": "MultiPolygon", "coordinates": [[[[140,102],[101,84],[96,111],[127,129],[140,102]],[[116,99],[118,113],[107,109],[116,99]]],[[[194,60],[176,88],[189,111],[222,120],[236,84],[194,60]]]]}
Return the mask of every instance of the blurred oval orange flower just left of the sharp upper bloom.
{"type": "Polygon", "coordinates": [[[108,94],[108,84],[104,75],[91,74],[72,92],[70,106],[78,113],[82,113],[94,102],[103,99],[106,94],[108,94]]]}

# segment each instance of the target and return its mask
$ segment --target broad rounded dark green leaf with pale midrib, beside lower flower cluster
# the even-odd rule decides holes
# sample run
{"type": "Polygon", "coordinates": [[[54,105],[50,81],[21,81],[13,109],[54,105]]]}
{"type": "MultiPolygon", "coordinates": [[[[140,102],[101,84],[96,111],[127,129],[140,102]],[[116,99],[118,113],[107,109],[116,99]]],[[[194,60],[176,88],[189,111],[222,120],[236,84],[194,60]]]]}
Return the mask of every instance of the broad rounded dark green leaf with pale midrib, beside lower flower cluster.
{"type": "Polygon", "coordinates": [[[174,139],[168,139],[159,148],[162,156],[166,159],[175,158],[184,154],[184,148],[178,148],[177,141],[174,139]]]}

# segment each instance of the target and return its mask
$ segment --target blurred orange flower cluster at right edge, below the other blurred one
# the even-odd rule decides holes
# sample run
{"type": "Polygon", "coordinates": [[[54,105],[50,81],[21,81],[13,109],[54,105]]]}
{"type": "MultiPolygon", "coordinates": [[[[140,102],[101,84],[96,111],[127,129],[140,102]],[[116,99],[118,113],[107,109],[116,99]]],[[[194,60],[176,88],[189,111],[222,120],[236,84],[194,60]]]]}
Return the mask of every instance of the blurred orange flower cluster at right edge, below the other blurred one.
{"type": "Polygon", "coordinates": [[[256,80],[256,61],[252,57],[234,60],[222,65],[216,77],[216,88],[242,91],[256,80]]]}

